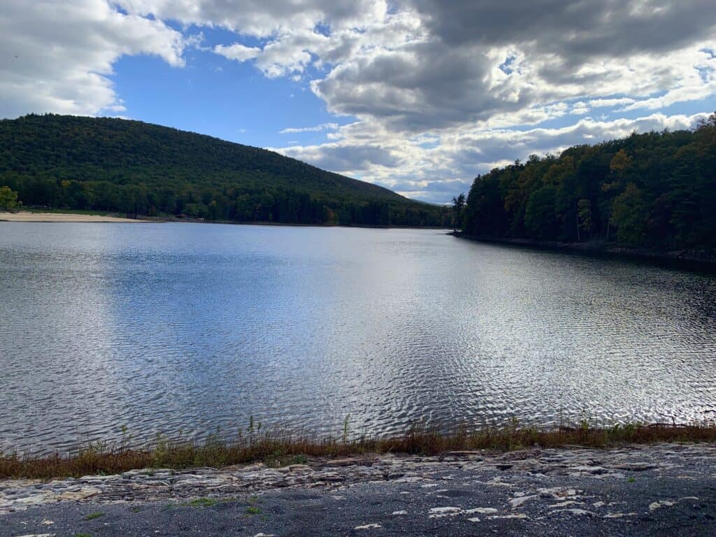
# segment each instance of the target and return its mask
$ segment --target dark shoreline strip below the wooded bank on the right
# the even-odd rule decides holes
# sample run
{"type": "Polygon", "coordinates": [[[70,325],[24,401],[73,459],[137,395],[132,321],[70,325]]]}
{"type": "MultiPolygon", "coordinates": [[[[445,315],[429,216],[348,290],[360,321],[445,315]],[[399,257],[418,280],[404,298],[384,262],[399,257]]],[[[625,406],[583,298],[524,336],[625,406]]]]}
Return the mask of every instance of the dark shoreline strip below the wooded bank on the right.
{"type": "Polygon", "coordinates": [[[576,253],[583,256],[629,259],[642,261],[672,268],[695,269],[716,272],[716,253],[700,253],[687,250],[657,251],[649,248],[629,248],[617,246],[606,241],[585,241],[569,243],[560,241],[540,241],[531,238],[505,238],[490,236],[474,236],[462,231],[448,233],[456,238],[480,243],[493,243],[516,248],[530,248],[533,250],[556,251],[563,253],[576,253]],[[700,255],[701,254],[701,255],[700,255]]]}

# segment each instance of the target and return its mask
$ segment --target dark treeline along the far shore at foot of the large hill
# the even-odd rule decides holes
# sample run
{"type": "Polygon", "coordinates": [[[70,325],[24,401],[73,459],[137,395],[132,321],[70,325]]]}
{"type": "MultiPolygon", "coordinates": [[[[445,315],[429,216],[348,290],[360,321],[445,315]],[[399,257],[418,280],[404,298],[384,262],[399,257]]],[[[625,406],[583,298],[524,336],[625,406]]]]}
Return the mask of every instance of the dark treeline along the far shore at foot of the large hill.
{"type": "Polygon", "coordinates": [[[282,188],[174,188],[108,181],[55,180],[5,174],[0,184],[17,193],[22,206],[107,211],[140,216],[180,216],[205,220],[342,224],[365,226],[445,226],[446,211],[430,205],[371,200],[367,203],[321,201],[307,193],[282,188]]]}

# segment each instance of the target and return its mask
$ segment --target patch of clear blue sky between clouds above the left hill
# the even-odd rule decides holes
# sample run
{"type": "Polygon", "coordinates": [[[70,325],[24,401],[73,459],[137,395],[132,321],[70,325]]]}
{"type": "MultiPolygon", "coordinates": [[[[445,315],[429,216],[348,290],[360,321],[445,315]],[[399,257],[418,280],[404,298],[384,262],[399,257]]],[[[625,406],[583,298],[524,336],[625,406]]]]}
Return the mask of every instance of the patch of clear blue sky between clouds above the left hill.
{"type": "MultiPolygon", "coordinates": [[[[194,29],[184,32],[199,33],[194,29]]],[[[325,142],[328,132],[301,132],[290,137],[279,132],[286,127],[354,121],[329,114],[306,82],[265,77],[253,62],[236,62],[215,54],[214,45],[237,41],[233,32],[203,27],[201,33],[200,47],[185,50],[183,68],[151,56],[125,56],[115,63],[110,78],[126,108],[120,115],[258,147],[279,147],[287,140],[301,145],[325,142]]],[[[242,41],[246,46],[258,42],[251,38],[242,41]]]]}

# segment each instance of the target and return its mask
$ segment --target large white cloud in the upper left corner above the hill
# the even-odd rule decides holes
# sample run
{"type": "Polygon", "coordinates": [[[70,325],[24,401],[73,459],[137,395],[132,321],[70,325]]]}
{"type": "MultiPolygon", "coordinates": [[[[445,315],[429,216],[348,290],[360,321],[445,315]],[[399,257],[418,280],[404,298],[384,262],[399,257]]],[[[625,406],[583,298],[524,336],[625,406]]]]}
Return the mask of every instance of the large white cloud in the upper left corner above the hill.
{"type": "Polygon", "coordinates": [[[103,0],[0,4],[0,117],[124,110],[108,75],[127,54],[182,67],[182,34],[103,0]]]}

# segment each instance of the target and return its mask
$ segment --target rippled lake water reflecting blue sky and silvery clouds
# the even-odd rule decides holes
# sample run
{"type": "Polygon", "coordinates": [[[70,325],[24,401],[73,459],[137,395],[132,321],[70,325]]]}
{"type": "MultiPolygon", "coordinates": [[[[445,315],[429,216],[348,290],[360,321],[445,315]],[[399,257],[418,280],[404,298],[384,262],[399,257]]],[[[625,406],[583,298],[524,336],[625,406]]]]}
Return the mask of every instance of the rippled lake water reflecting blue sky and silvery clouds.
{"type": "Polygon", "coordinates": [[[716,277],[444,231],[0,223],[0,448],[716,417],[716,277]]]}

